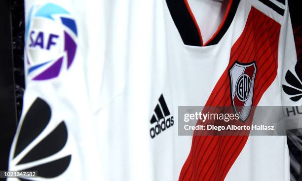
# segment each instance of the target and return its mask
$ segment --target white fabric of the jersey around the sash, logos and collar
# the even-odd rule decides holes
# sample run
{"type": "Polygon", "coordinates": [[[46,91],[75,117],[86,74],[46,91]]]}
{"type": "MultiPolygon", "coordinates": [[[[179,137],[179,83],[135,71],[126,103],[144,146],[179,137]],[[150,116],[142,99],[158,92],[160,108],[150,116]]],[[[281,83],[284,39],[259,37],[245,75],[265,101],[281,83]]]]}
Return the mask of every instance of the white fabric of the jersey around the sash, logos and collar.
{"type": "MultiPolygon", "coordinates": [[[[241,0],[220,42],[196,47],[184,45],[165,0],[47,2],[66,8],[76,20],[76,58],[68,71],[54,79],[26,78],[23,113],[9,170],[27,168],[16,166],[12,153],[24,116],[40,97],[50,105],[52,118],[38,140],[61,120],[68,128],[68,142],[54,158],[72,154],[72,160],[53,180],[178,180],[192,140],[192,136],[178,136],[178,106],[205,105],[227,68],[230,49],[241,35],[252,5],[281,24],[277,77],[259,106],[294,104],[281,93],[284,73],[297,61],[287,5],[282,17],[261,2],[241,0]],[[151,139],[150,119],[161,94],[174,116],[174,125],[151,139]]],[[[26,17],[32,5],[44,3],[26,0],[26,17]]],[[[250,137],[226,180],[289,181],[286,137],[250,137]]]]}

